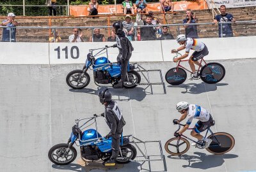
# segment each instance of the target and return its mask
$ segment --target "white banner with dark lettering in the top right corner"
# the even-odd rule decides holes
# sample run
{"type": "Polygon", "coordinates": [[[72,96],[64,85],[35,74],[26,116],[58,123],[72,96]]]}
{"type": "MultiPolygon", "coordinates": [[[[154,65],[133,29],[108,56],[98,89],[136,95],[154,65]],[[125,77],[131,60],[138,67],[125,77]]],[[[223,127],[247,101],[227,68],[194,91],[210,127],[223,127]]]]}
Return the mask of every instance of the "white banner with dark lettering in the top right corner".
{"type": "Polygon", "coordinates": [[[225,5],[227,8],[237,8],[243,6],[256,6],[256,0],[210,0],[208,1],[209,8],[220,8],[221,5],[225,5]],[[212,5],[212,1],[214,5],[212,5]]]}

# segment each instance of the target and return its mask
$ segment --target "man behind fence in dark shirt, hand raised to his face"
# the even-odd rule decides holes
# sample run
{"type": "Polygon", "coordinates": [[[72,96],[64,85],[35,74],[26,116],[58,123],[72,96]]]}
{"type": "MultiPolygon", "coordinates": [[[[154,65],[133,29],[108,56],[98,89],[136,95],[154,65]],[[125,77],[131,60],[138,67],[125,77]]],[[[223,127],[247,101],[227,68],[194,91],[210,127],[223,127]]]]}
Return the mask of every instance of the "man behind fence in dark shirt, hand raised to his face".
{"type": "MultiPolygon", "coordinates": [[[[198,20],[196,14],[191,10],[186,11],[186,18],[183,20],[183,24],[195,24],[198,20]]],[[[186,38],[198,38],[196,25],[184,25],[186,38]]]]}

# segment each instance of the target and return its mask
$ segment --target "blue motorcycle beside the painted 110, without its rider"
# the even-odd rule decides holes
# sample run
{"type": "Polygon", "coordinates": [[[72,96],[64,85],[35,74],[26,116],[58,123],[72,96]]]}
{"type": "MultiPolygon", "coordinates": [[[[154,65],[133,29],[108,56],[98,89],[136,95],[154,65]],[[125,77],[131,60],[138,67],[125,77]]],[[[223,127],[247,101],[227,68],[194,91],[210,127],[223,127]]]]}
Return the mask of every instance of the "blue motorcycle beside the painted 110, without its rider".
{"type": "MultiPolygon", "coordinates": [[[[77,69],[68,73],[66,82],[69,87],[72,89],[83,89],[90,83],[90,75],[88,75],[88,69],[93,70],[93,79],[95,84],[112,84],[118,82],[121,78],[120,64],[111,63],[108,60],[108,48],[113,46],[106,46],[105,48],[97,48],[89,50],[87,55],[86,62],[83,66],[83,69],[77,69]],[[95,52],[93,54],[93,52],[95,52]],[[95,59],[98,55],[106,53],[107,57],[99,57],[95,59]]],[[[124,82],[124,87],[127,89],[132,89],[137,86],[141,81],[140,74],[136,69],[136,64],[129,64],[127,67],[127,82],[124,82]]]]}

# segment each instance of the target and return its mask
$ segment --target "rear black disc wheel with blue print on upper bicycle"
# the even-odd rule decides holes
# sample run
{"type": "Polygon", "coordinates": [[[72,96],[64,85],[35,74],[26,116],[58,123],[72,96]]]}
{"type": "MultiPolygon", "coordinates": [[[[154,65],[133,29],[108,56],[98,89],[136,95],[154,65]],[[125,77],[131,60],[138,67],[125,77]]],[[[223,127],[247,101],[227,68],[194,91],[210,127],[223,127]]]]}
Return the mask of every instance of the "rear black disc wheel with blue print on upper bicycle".
{"type": "Polygon", "coordinates": [[[200,78],[205,83],[220,82],[225,76],[225,68],[218,62],[209,62],[200,70],[200,78]]]}

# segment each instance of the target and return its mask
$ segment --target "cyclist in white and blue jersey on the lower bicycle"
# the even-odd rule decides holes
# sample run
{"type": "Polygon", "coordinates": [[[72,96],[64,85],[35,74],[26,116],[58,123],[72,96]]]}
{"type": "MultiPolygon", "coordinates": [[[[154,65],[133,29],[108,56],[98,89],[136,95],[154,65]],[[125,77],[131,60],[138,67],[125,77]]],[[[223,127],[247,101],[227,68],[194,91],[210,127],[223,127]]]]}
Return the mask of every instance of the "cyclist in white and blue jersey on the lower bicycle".
{"type": "MultiPolygon", "coordinates": [[[[180,101],[176,105],[176,109],[182,114],[179,120],[174,120],[176,124],[180,123],[182,120],[184,120],[186,117],[188,117],[188,121],[186,122],[186,125],[180,129],[179,133],[174,133],[175,137],[179,137],[182,133],[184,133],[189,125],[191,124],[193,118],[198,119],[198,122],[196,122],[195,129],[191,131],[191,136],[198,139],[198,142],[202,143],[202,141],[205,141],[204,148],[209,147],[212,140],[203,137],[200,133],[205,131],[208,127],[211,127],[214,125],[214,120],[212,119],[211,114],[202,108],[201,106],[198,106],[196,104],[188,104],[186,101],[180,101]]],[[[196,146],[195,143],[192,143],[191,145],[196,146]]]]}

